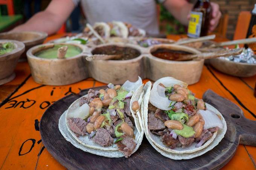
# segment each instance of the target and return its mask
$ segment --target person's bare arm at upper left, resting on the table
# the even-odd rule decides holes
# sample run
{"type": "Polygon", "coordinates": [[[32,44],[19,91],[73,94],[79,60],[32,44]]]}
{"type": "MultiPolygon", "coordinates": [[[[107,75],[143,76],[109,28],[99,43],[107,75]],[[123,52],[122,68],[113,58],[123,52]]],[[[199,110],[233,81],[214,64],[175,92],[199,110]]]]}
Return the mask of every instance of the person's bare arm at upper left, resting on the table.
{"type": "Polygon", "coordinates": [[[56,33],[74,8],[72,0],[52,0],[44,11],[36,13],[12,31],[43,31],[49,35],[56,33]]]}

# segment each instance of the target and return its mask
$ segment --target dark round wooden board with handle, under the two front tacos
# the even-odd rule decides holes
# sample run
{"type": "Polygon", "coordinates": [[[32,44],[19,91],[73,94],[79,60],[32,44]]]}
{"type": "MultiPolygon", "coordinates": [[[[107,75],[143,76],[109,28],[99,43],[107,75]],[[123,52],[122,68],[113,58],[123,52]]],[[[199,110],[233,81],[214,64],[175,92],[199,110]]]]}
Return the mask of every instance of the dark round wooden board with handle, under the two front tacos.
{"type": "Polygon", "coordinates": [[[67,142],[58,129],[61,114],[87,92],[88,89],[85,89],[80,95],[70,94],[56,101],[44,112],[40,121],[44,146],[67,169],[219,169],[230,161],[239,143],[256,146],[256,121],[246,119],[236,104],[208,90],[203,100],[222,113],[227,122],[227,132],[219,145],[206,154],[190,160],[171,160],[158,153],[144,136],[138,151],[128,159],[93,155],[67,142]]]}

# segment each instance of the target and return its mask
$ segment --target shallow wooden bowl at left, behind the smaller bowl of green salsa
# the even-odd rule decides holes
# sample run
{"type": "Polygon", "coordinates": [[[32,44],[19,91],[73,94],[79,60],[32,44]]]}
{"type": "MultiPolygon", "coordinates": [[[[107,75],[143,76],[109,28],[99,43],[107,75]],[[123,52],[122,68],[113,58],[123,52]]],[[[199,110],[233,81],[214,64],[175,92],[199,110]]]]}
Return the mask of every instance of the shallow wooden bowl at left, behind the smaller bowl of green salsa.
{"type": "Polygon", "coordinates": [[[25,51],[21,55],[19,61],[26,61],[27,50],[35,45],[42,44],[47,36],[47,33],[37,31],[15,31],[0,33],[0,39],[17,40],[25,44],[25,51]]]}

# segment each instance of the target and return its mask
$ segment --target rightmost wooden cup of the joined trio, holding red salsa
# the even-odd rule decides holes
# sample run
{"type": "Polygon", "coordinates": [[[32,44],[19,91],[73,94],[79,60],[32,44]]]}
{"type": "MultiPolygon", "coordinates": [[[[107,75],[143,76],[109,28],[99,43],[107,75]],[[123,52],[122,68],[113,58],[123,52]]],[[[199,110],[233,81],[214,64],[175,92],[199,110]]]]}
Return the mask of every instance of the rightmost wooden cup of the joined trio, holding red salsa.
{"type": "Polygon", "coordinates": [[[199,81],[204,65],[203,59],[191,61],[164,60],[151,54],[151,52],[156,51],[159,48],[185,51],[192,54],[201,53],[194,48],[174,44],[161,44],[151,46],[149,48],[148,58],[146,58],[146,63],[148,63],[147,78],[156,81],[162,77],[171,76],[178,80],[184,81],[189,85],[195,84],[199,81]]]}

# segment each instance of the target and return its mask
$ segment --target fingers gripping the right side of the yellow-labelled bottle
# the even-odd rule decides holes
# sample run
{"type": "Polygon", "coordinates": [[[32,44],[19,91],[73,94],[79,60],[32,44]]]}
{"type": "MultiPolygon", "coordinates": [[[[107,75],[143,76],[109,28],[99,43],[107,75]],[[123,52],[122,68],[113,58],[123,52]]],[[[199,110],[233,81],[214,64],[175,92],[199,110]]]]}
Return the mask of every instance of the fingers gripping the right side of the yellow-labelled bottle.
{"type": "Polygon", "coordinates": [[[221,12],[219,10],[219,5],[214,3],[214,2],[210,2],[210,5],[212,7],[212,17],[210,20],[210,25],[209,25],[209,32],[212,32],[218,25],[219,23],[219,19],[221,18],[221,12]]]}

